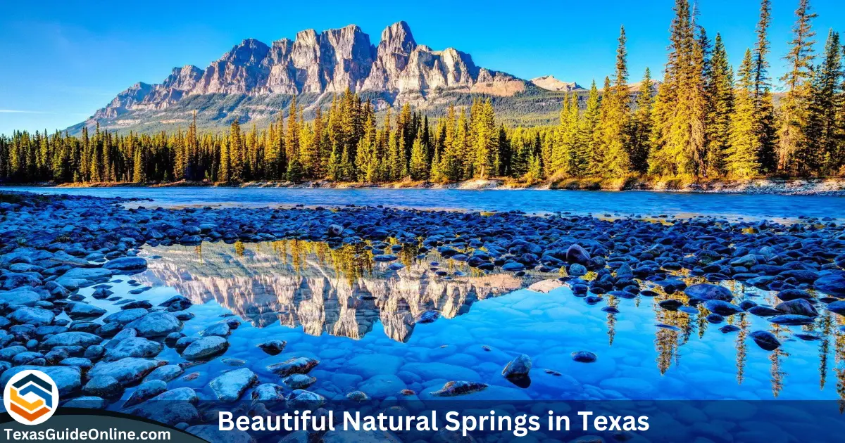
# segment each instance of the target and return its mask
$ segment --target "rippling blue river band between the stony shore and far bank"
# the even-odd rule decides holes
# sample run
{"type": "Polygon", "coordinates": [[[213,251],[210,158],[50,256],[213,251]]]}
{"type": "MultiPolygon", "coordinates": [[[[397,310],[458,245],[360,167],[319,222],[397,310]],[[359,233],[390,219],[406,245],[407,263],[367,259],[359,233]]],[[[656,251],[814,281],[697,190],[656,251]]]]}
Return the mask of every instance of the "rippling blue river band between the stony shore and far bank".
{"type": "Polygon", "coordinates": [[[156,205],[378,205],[403,208],[521,210],[526,213],[713,215],[730,219],[845,217],[845,197],[679,192],[467,191],[457,189],[286,189],[226,187],[7,187],[43,193],[146,197],[156,205]]]}

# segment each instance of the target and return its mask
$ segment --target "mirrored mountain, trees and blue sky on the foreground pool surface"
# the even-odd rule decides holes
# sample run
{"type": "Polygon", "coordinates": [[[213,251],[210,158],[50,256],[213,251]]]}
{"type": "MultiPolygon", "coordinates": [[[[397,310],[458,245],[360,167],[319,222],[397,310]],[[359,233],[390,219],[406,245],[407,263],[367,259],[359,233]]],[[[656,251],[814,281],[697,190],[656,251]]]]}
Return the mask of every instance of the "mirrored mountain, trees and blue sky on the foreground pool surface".
{"type": "MultiPolygon", "coordinates": [[[[557,378],[543,381],[545,372],[536,380],[532,373],[532,386],[524,389],[532,397],[613,398],[621,392],[635,398],[649,392],[655,398],[841,398],[845,408],[845,318],[820,305],[820,316],[804,326],[781,326],[745,312],[711,323],[707,320],[711,313],[704,305],[691,307],[683,292],[668,294],[649,282],[641,282],[641,287],[653,290],[656,297],[628,300],[603,294],[601,303],[588,305],[569,289],[553,289],[560,284],[554,273],[524,277],[483,273],[465,262],[444,259],[436,252],[422,254],[416,245],[395,241],[376,245],[376,249],[363,245],[332,248],[305,240],[161,246],[144,250],[157,258],[150,260],[149,269],[136,279],[171,287],[194,304],[215,302],[254,327],[282,327],[289,331],[285,333],[301,327],[307,337],[319,338],[317,348],[346,348],[357,353],[377,342],[380,334],[373,333],[375,337],[369,340],[365,336],[384,331],[394,344],[379,344],[380,352],[408,365],[431,363],[433,355],[442,352],[440,361],[450,365],[476,361],[482,365],[476,367],[482,377],[479,380],[488,381],[498,380],[503,365],[515,355],[529,354],[539,369],[564,373],[581,386],[595,386],[586,394],[581,387],[558,386],[557,378]],[[393,262],[376,260],[383,253],[397,258],[393,262]],[[403,267],[395,269],[399,264],[403,267]],[[548,294],[514,292],[541,280],[545,285],[542,292],[548,294]],[[478,300],[488,301],[472,308],[475,315],[464,316],[478,300]],[[684,306],[670,311],[660,305],[665,300],[678,300],[684,306]],[[420,328],[422,332],[412,338],[415,328],[437,316],[450,321],[425,325],[433,328],[420,328]],[[737,329],[720,330],[728,325],[737,329]],[[760,349],[750,338],[751,332],[760,330],[774,334],[782,346],[771,352],[760,349]],[[356,342],[339,343],[335,337],[356,342]],[[455,341],[466,343],[469,338],[475,338],[473,346],[478,348],[483,343],[513,344],[502,344],[508,358],[497,357],[500,354],[495,351],[472,354],[466,349],[458,354],[460,358],[450,358],[447,351],[429,349],[455,341]],[[599,361],[573,365],[569,356],[576,350],[595,352],[599,361]],[[627,382],[631,377],[648,384],[647,390],[639,386],[640,392],[629,392],[619,387],[621,380],[627,382]],[[608,379],[620,381],[606,383],[608,379]],[[829,386],[834,379],[835,386],[829,386]]],[[[595,278],[595,273],[585,278],[595,278]]],[[[684,271],[674,273],[673,278],[688,285],[704,283],[701,277],[684,271]]],[[[736,294],[737,304],[753,300],[773,306],[779,302],[774,293],[742,282],[722,284],[736,294]]],[[[197,318],[192,322],[217,320],[197,318]]],[[[237,333],[243,332],[239,329],[237,333]]],[[[264,339],[267,333],[256,330],[253,340],[264,339]]],[[[249,359],[248,354],[241,357],[249,359]]],[[[346,370],[342,362],[323,365],[346,370]]],[[[355,374],[355,370],[349,371],[355,374]]],[[[421,377],[423,382],[439,379],[436,375],[421,377]]],[[[334,389],[329,381],[320,383],[326,383],[324,389],[334,389]]]]}

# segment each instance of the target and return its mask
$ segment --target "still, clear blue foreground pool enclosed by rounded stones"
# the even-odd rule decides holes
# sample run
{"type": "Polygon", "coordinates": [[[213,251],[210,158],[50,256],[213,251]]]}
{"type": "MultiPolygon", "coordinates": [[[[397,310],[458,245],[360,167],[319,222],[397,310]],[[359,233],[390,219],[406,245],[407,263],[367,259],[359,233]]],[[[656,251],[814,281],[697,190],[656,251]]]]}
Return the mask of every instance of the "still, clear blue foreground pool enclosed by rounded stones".
{"type": "MultiPolygon", "coordinates": [[[[845,334],[839,330],[845,319],[827,311],[806,327],[777,327],[751,315],[711,325],[703,308],[698,313],[659,308],[666,294],[606,297],[587,305],[568,287],[553,288],[557,274],[477,273],[436,253],[417,258],[412,247],[397,253],[406,265],[399,271],[373,262],[360,247],[331,250],[301,240],[147,247],[142,254],[150,266],[131,278],[153,288],[128,295],[134,289],[129,278],[115,276],[115,294],[154,305],[173,294],[187,296],[196,315],[185,323],[188,335],[225,316],[243,319],[226,354],[189,368],[190,375],[169,385],[194,387],[205,397],[212,396],[208,383],[224,370],[246,366],[262,381],[279,382],[267,365],[307,356],[320,360],[310,373],[317,381],[308,389],[330,399],[355,390],[374,398],[401,397],[398,392],[406,388],[424,399],[450,380],[490,385],[465,397],[473,399],[845,398],[845,334]],[[431,261],[447,275],[436,275],[431,261]],[[548,292],[527,289],[549,283],[548,292]],[[602,311],[606,305],[620,312],[602,311]],[[437,311],[440,318],[418,322],[424,311],[437,311]],[[718,330],[728,323],[740,331],[718,330]],[[782,347],[759,348],[747,337],[757,329],[776,333],[782,347]],[[270,356],[256,348],[270,339],[286,340],[285,351],[270,356]],[[573,361],[570,354],[581,350],[597,354],[597,362],[573,361]],[[518,354],[534,363],[527,387],[501,375],[518,354]]],[[[723,284],[740,298],[775,301],[765,291],[723,284]]],[[[119,309],[111,301],[90,302],[119,309]]],[[[172,348],[159,358],[183,361],[172,348]]]]}

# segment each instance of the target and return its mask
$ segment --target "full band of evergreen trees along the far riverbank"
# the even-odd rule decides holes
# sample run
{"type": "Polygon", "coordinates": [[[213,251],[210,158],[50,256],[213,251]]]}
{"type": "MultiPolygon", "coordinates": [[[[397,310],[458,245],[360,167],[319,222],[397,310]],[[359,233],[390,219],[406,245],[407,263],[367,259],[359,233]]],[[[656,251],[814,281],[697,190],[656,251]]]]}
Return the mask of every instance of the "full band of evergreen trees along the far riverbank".
{"type": "Polygon", "coordinates": [[[711,41],[689,0],[676,0],[674,12],[661,82],[646,69],[638,89],[628,84],[623,27],[613,76],[602,89],[593,82],[586,95],[565,95],[552,127],[504,127],[489,99],[450,106],[436,119],[403,105],[377,121],[373,104],[347,90],[310,122],[294,98],[286,116],[260,130],[235,120],[225,133],[199,133],[194,116],[187,130],[171,133],[14,132],[0,137],[0,180],[535,182],[845,173],[845,46],[831,30],[816,57],[809,0],[795,11],[777,105],[770,0],[760,2],[755,45],[736,71],[721,35],[711,41]]]}

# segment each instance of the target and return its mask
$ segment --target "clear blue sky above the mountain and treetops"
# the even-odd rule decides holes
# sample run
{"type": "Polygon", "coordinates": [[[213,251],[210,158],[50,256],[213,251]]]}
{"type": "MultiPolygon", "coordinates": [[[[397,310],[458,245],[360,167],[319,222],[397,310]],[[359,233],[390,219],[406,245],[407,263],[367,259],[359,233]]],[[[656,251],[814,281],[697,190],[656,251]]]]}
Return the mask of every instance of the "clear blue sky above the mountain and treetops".
{"type": "MultiPolygon", "coordinates": [[[[798,0],[772,3],[771,71],[779,76],[798,0]]],[[[814,24],[820,51],[831,27],[845,31],[845,4],[811,3],[819,14],[814,24]]],[[[377,44],[385,26],[405,20],[417,43],[453,46],[472,54],[479,66],[521,78],[551,74],[585,86],[612,73],[624,24],[631,81],[637,81],[646,66],[661,75],[673,15],[673,0],[3,0],[0,5],[0,133],[7,134],[81,122],[128,86],[159,83],[176,66],[205,68],[244,38],[269,44],[298,30],[346,24],[358,24],[377,44]]],[[[708,34],[722,33],[731,61],[739,65],[754,43],[758,2],[699,0],[699,8],[708,34]]]]}

